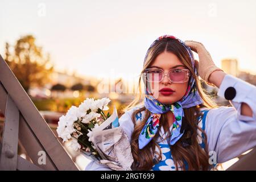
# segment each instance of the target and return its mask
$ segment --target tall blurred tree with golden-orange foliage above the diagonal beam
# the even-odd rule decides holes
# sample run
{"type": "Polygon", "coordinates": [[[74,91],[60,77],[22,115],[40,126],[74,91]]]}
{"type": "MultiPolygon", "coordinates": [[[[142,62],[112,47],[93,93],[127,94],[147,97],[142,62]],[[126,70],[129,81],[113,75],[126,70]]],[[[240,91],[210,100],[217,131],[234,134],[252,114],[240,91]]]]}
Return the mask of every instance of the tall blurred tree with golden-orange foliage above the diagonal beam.
{"type": "Polygon", "coordinates": [[[5,47],[6,63],[26,92],[31,86],[44,86],[50,81],[49,76],[53,71],[49,54],[44,55],[42,47],[36,46],[35,40],[34,36],[26,35],[17,40],[12,52],[9,43],[5,47]]]}

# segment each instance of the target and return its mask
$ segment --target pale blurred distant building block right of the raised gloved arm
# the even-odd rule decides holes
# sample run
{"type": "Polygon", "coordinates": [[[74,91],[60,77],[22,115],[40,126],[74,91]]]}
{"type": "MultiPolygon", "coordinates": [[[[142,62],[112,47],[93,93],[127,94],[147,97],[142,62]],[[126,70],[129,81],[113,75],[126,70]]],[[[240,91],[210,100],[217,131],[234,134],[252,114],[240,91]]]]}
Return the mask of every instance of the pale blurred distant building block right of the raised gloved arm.
{"type": "Polygon", "coordinates": [[[237,76],[239,74],[237,59],[221,60],[221,68],[230,75],[237,76]]]}

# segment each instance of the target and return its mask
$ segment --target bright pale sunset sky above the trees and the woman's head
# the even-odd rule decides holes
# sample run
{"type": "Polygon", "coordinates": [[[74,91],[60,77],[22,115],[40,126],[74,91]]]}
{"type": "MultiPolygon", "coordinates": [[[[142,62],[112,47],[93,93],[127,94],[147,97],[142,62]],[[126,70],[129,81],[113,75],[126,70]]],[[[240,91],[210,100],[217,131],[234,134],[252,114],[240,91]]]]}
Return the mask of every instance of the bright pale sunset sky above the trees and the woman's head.
{"type": "MultiPolygon", "coordinates": [[[[56,69],[139,75],[160,35],[201,42],[218,67],[236,58],[256,74],[256,1],[0,1],[0,53],[32,34],[56,69]]],[[[195,55],[196,56],[196,55],[195,55]]],[[[196,56],[197,57],[197,56],[196,56]]]]}

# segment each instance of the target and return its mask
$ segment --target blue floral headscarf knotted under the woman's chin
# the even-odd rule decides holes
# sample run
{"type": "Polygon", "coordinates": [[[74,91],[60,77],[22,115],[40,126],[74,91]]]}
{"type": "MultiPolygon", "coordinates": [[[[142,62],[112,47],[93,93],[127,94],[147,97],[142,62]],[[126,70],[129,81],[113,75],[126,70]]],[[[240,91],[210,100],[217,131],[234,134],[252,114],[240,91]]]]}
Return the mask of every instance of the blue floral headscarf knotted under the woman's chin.
{"type": "MultiPolygon", "coordinates": [[[[146,56],[144,58],[144,64],[146,62],[146,58],[148,55],[148,52],[150,51],[151,47],[155,45],[156,42],[159,42],[162,39],[176,39],[179,40],[179,42],[187,49],[188,55],[191,59],[193,71],[197,75],[196,67],[195,67],[195,59],[193,57],[193,53],[191,51],[191,48],[189,48],[187,45],[185,45],[184,42],[182,42],[180,39],[177,39],[175,36],[172,35],[163,35],[160,36],[158,39],[156,39],[148,48],[146,56]]],[[[145,84],[145,98],[144,98],[144,106],[146,109],[148,109],[152,114],[148,118],[146,124],[144,125],[141,134],[139,135],[139,149],[142,149],[145,147],[151,140],[154,138],[156,131],[159,129],[159,121],[161,114],[167,113],[168,111],[171,111],[174,113],[174,122],[172,125],[172,133],[171,133],[171,139],[170,145],[174,145],[177,140],[179,140],[184,130],[181,131],[181,125],[182,125],[182,119],[184,117],[184,111],[183,109],[189,108],[192,106],[200,105],[203,103],[201,100],[201,97],[197,91],[195,79],[191,76],[189,78],[189,84],[187,88],[187,92],[181,98],[181,100],[175,102],[174,104],[162,104],[158,100],[154,98],[151,94],[148,93],[147,86],[145,84]]]]}

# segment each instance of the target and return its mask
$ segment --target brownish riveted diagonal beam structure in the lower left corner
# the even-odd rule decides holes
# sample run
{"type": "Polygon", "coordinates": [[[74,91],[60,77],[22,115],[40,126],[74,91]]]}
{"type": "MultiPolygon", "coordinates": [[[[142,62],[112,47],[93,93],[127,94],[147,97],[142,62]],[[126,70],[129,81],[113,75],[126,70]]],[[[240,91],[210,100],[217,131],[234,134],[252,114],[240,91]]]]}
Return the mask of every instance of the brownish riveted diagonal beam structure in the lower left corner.
{"type": "Polygon", "coordinates": [[[0,170],[78,170],[1,55],[0,110],[0,170]],[[17,154],[18,141],[32,163],[17,154]]]}

